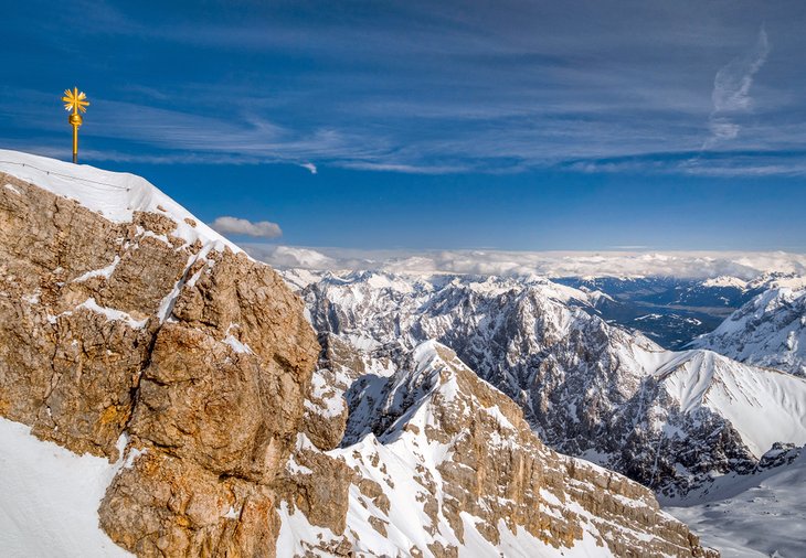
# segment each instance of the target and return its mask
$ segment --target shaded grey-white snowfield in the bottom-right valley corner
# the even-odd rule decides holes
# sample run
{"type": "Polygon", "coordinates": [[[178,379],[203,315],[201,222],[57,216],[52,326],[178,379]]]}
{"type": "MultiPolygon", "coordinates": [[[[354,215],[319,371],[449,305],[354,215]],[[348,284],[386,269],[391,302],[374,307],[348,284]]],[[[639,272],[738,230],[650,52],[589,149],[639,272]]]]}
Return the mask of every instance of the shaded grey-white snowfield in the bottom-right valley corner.
{"type": "Polygon", "coordinates": [[[806,451],[788,465],[718,479],[682,506],[665,509],[723,558],[806,556],[806,451]]]}

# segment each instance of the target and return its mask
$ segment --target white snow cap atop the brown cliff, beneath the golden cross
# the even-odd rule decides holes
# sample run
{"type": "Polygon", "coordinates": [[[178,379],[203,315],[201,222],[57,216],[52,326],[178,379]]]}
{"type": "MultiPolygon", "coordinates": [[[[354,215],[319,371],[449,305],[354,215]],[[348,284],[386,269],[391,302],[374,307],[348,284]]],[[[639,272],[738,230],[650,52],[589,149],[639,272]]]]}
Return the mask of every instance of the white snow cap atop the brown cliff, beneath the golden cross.
{"type": "MultiPolygon", "coordinates": [[[[109,221],[128,223],[136,211],[167,215],[177,222],[174,236],[192,244],[213,243],[219,248],[243,251],[193,217],[184,207],[141,176],[73,164],[46,157],[0,149],[0,172],[35,184],[56,195],[75,200],[109,221]],[[195,222],[192,226],[185,219],[195,222]]],[[[13,186],[12,186],[13,190],[13,186]]]]}

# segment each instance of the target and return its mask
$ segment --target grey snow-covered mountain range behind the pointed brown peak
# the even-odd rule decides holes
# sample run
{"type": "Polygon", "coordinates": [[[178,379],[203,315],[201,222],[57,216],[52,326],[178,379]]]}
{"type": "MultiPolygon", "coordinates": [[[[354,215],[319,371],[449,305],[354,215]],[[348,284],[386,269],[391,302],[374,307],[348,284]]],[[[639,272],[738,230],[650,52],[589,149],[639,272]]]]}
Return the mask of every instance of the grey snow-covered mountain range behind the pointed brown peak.
{"type": "MultiPolygon", "coordinates": [[[[285,277],[326,344],[352,351],[357,408],[390,355],[436,340],[518,403],[550,447],[668,496],[752,471],[776,441],[806,441],[806,383],[707,351],[664,351],[585,310],[601,293],[539,278],[285,277]],[[754,428],[770,412],[776,439],[754,428]]],[[[346,440],[357,438],[348,426],[346,440]]]]}

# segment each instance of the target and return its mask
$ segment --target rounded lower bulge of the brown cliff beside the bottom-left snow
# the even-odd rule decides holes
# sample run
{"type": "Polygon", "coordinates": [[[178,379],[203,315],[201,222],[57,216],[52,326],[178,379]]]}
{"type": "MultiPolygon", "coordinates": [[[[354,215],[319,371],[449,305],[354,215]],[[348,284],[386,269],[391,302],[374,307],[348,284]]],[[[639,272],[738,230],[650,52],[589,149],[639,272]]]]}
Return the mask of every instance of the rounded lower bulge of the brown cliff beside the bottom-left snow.
{"type": "Polygon", "coordinates": [[[266,485],[148,448],[115,479],[100,525],[138,556],[273,556],[274,506],[266,485]]]}

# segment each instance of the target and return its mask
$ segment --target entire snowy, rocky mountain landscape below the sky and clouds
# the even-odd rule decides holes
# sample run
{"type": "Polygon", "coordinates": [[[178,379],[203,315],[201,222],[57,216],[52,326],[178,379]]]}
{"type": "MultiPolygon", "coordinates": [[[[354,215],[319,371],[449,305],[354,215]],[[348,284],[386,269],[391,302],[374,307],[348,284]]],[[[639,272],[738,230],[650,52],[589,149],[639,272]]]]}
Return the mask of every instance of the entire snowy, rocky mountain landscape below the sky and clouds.
{"type": "Polygon", "coordinates": [[[795,275],[277,277],[0,160],[3,556],[806,556],[795,275]]]}

